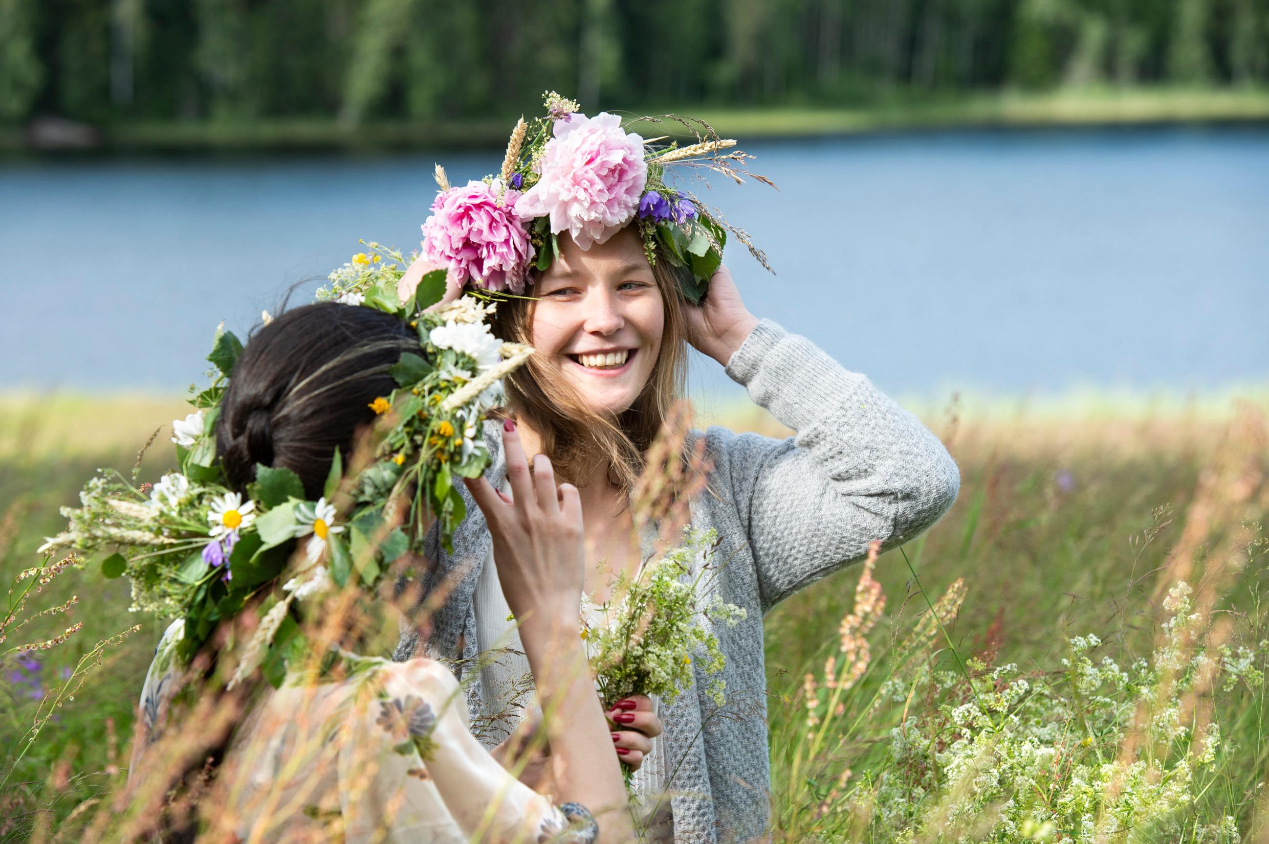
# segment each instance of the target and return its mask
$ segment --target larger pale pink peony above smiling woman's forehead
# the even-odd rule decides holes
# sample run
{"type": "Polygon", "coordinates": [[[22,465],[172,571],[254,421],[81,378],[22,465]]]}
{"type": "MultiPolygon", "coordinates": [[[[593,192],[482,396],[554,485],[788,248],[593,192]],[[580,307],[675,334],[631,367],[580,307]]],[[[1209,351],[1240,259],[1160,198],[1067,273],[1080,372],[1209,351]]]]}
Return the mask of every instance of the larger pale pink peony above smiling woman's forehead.
{"type": "Polygon", "coordinates": [[[638,210],[647,182],[643,138],[622,129],[615,114],[571,114],[556,120],[538,162],[541,179],[519,201],[523,218],[551,217],[582,250],[603,243],[638,210]]]}

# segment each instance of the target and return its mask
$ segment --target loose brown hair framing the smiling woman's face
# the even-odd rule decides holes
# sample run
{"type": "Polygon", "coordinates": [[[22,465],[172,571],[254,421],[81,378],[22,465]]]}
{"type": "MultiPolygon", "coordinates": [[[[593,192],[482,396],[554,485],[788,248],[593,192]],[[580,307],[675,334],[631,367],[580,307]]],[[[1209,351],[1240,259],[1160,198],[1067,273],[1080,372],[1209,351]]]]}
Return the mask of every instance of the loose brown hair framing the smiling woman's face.
{"type": "MultiPolygon", "coordinates": [[[[562,480],[581,485],[591,466],[608,466],[608,479],[632,489],[643,469],[643,454],[683,397],[688,373],[688,329],[683,294],[685,267],[670,264],[660,247],[654,252],[652,276],[665,307],[665,328],[656,364],[638,398],[618,414],[593,411],[572,385],[537,357],[504,379],[509,409],[527,421],[542,440],[562,480]]],[[[534,271],[534,275],[539,275],[534,271]]],[[[532,291],[532,288],[527,293],[532,291]]],[[[508,299],[494,314],[494,332],[504,340],[529,343],[537,299],[508,299]]]]}

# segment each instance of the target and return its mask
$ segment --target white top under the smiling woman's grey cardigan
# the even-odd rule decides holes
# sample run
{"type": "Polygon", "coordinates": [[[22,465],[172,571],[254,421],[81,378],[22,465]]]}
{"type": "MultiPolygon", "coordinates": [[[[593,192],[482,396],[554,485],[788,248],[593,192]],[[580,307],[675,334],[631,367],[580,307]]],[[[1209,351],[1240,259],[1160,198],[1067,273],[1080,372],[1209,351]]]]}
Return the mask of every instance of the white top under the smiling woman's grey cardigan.
{"type": "MultiPolygon", "coordinates": [[[[510,494],[504,484],[503,492],[510,494]]],[[[511,734],[511,730],[523,720],[525,712],[541,716],[533,694],[530,681],[529,660],[524,656],[524,646],[520,644],[520,634],[515,629],[515,622],[510,621],[511,608],[503,596],[503,587],[497,579],[497,565],[494,561],[492,546],[481,566],[480,577],[476,579],[476,592],[472,597],[476,610],[476,648],[481,653],[506,649],[518,653],[501,653],[487,662],[481,668],[481,686],[483,698],[481,700],[481,716],[492,717],[500,712],[505,717],[491,725],[486,741],[490,746],[496,745],[511,734]],[[519,700],[516,700],[519,698],[519,700]],[[516,706],[518,703],[518,706],[516,706]]],[[[584,602],[586,621],[590,626],[607,623],[607,618],[598,613],[594,604],[584,602]]],[[[660,711],[661,702],[652,698],[654,711],[660,711]]],[[[634,772],[633,786],[640,798],[651,809],[648,797],[656,797],[665,791],[665,748],[661,736],[652,741],[652,750],[643,758],[643,764],[634,772]]]]}

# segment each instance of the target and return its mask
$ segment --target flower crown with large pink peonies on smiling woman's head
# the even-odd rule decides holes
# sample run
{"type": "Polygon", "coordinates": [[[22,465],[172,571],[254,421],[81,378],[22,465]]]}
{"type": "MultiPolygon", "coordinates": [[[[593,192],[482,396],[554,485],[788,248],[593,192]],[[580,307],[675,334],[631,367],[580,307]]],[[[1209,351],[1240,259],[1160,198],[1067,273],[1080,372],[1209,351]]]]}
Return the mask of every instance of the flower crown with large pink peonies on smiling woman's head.
{"type": "MultiPolygon", "coordinates": [[[[723,152],[735,141],[720,138],[703,120],[679,115],[633,120],[673,120],[697,137],[690,146],[656,147],[654,142],[664,138],[645,141],[627,132],[614,114],[586,117],[555,91],[544,99],[546,117],[516,122],[497,174],[452,186],[437,165],[440,190],[423,224],[419,257],[428,267],[445,270],[452,288],[523,293],[530,272],[546,270],[560,253],[560,234],[567,232],[579,248],[589,250],[631,221],[638,224],[650,264],[655,265],[660,246],[671,264],[690,271],[683,274],[689,302],[704,298],[728,232],[770,270],[742,229],[667,181],[670,169],[700,167],[737,184],[750,176],[774,188],[769,179],[749,172],[746,161],[753,156],[723,152]]],[[[402,298],[412,293],[412,283],[409,276],[402,281],[402,298]]]]}

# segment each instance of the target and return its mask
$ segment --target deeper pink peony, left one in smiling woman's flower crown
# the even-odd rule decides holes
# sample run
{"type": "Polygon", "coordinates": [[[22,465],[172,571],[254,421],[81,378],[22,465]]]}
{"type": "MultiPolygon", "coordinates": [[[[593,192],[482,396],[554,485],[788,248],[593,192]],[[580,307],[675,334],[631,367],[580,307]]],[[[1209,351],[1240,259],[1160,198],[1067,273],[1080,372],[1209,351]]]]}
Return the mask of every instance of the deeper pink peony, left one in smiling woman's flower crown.
{"type": "Polygon", "coordinates": [[[516,199],[519,194],[508,190],[500,205],[482,181],[440,193],[423,224],[419,260],[448,269],[450,285],[475,281],[489,290],[522,291],[533,246],[514,210],[516,199]]]}

